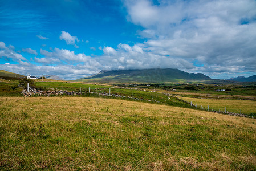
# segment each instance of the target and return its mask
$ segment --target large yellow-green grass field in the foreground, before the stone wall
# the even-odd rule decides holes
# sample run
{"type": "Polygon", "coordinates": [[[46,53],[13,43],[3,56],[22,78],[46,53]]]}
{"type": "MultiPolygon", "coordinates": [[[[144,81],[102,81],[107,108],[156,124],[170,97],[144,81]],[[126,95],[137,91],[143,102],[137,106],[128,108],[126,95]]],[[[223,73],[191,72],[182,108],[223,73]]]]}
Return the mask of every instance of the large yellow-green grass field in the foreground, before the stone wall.
{"type": "Polygon", "coordinates": [[[0,97],[0,170],[255,170],[256,121],[133,101],[0,97]]]}

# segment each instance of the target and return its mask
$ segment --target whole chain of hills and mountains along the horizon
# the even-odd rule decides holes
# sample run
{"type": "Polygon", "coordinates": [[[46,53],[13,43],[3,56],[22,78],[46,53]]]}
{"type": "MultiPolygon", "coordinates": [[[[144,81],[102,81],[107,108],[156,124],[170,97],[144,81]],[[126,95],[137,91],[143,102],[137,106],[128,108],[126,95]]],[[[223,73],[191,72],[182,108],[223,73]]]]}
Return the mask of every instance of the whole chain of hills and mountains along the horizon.
{"type": "MultiPolygon", "coordinates": [[[[13,72],[0,70],[0,77],[25,77],[24,75],[13,72]]],[[[47,79],[63,80],[56,75],[46,75],[47,79]]],[[[211,79],[201,73],[188,73],[178,69],[144,69],[144,70],[111,70],[100,71],[97,74],[81,78],[76,81],[80,82],[101,82],[101,83],[163,83],[163,82],[204,82],[210,84],[235,84],[239,82],[256,82],[256,75],[237,78],[230,78],[227,80],[211,79]]]]}

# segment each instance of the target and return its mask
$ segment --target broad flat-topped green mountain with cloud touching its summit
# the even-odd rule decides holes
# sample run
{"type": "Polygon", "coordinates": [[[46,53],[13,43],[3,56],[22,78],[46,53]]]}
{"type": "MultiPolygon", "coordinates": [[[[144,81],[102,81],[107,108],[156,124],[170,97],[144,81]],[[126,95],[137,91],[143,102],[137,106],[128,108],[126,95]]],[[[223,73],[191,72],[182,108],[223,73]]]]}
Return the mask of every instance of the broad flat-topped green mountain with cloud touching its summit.
{"type": "Polygon", "coordinates": [[[181,81],[194,81],[194,80],[211,80],[209,76],[201,73],[188,73],[178,69],[145,69],[145,70],[112,70],[100,71],[87,78],[79,79],[84,82],[119,82],[119,83],[132,83],[132,82],[181,82],[181,81]]]}

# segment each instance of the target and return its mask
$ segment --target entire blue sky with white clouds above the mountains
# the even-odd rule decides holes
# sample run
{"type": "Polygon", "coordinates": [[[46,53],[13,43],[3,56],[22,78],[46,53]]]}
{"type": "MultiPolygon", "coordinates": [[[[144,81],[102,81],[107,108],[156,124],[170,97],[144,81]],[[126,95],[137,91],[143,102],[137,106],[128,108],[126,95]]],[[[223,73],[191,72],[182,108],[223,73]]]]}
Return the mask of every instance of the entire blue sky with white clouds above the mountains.
{"type": "Polygon", "coordinates": [[[256,75],[255,0],[0,0],[0,69],[83,78],[178,68],[256,75]]]}

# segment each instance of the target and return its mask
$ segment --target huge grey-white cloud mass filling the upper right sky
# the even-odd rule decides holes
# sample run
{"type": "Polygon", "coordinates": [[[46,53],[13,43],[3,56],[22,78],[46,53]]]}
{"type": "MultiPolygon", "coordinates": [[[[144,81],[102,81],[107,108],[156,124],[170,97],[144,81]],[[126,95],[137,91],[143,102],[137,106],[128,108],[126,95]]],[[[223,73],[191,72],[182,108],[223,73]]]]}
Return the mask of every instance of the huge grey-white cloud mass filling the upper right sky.
{"type": "Polygon", "coordinates": [[[129,21],[144,27],[139,32],[147,38],[139,46],[144,51],[200,63],[205,67],[194,65],[190,71],[205,74],[233,68],[255,72],[256,1],[159,1],[154,5],[138,0],[125,1],[125,6],[129,21]]]}

